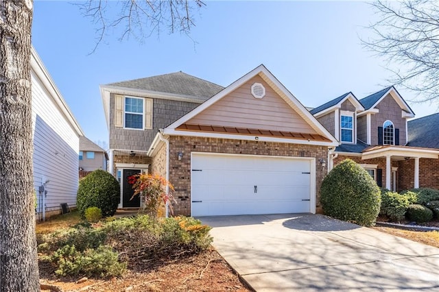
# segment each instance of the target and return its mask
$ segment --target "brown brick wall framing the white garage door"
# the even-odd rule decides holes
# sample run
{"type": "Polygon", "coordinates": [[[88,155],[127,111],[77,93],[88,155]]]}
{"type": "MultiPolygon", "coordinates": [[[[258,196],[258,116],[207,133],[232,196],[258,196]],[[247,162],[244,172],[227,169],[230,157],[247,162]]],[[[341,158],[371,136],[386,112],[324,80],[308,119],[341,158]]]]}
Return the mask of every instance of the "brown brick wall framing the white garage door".
{"type": "MultiPolygon", "coordinates": [[[[174,184],[174,197],[177,203],[174,206],[174,215],[191,215],[191,152],[316,158],[316,206],[318,210],[320,208],[320,184],[327,173],[327,168],[323,169],[318,160],[320,158],[327,159],[327,147],[221,138],[171,136],[169,138],[169,148],[169,181],[171,184],[174,184]],[[183,153],[181,161],[178,161],[177,158],[178,151],[183,153]]],[[[153,169],[155,169],[154,166],[153,169]]]]}

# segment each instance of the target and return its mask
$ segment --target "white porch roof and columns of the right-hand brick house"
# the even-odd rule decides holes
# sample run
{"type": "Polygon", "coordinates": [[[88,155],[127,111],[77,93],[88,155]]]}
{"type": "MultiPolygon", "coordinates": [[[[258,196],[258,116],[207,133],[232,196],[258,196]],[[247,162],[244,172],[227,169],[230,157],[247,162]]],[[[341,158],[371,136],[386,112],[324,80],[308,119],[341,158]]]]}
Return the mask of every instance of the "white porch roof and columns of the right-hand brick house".
{"type": "Polygon", "coordinates": [[[414,171],[412,173],[413,185],[411,187],[419,188],[420,158],[438,159],[439,150],[420,147],[380,145],[369,147],[361,154],[361,160],[376,158],[385,158],[385,188],[389,190],[394,190],[394,187],[392,186],[395,185],[396,180],[396,175],[393,173],[394,169],[392,169],[392,162],[414,160],[414,171]]]}

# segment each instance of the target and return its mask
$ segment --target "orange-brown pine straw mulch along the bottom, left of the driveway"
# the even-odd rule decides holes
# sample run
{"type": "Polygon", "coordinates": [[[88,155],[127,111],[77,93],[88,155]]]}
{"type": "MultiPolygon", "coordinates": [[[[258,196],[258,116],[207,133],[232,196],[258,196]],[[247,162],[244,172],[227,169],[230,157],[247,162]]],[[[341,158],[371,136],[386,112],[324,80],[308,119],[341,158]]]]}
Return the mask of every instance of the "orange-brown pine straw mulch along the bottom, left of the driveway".
{"type": "Polygon", "coordinates": [[[130,265],[121,278],[78,280],[57,278],[40,262],[42,288],[51,288],[41,291],[253,291],[213,248],[165,264],[130,265]]]}

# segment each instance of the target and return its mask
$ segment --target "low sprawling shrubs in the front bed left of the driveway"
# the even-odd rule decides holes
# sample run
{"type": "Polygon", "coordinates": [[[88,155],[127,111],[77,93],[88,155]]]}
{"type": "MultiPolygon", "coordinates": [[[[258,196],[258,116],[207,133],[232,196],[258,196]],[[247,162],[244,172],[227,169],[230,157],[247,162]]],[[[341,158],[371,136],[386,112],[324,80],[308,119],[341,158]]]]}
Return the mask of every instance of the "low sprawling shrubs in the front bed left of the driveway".
{"type": "Polygon", "coordinates": [[[137,215],[45,234],[38,251],[60,276],[121,276],[127,267],[141,270],[204,252],[210,229],[190,217],[137,215]]]}

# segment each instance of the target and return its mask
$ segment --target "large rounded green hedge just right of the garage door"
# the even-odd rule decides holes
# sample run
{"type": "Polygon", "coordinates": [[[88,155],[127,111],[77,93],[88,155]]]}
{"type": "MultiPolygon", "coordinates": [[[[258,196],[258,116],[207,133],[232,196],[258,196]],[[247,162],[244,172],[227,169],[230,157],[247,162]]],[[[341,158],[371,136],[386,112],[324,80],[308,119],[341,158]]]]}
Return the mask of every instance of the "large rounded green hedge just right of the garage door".
{"type": "Polygon", "coordinates": [[[366,170],[346,159],[324,178],[320,201],[326,215],[361,226],[373,226],[379,213],[381,191],[366,170]]]}

